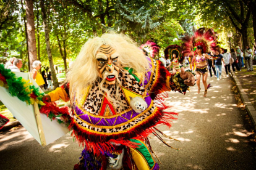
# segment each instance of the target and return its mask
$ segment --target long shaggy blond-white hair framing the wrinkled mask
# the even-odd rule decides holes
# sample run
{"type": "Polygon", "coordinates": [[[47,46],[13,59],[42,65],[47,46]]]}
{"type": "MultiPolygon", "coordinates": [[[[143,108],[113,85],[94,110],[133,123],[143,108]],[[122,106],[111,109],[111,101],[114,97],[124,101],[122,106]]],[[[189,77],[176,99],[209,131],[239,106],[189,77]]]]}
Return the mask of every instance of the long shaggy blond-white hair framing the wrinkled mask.
{"type": "Polygon", "coordinates": [[[103,44],[107,44],[116,50],[119,54],[118,59],[121,67],[133,68],[136,72],[143,73],[142,75],[145,75],[147,70],[150,69],[148,60],[142,51],[126,35],[107,33],[101,37],[88,39],[67,73],[66,82],[70,84],[70,102],[74,102],[72,101],[74,96],[75,100],[80,101],[84,94],[83,90],[92,86],[96,79],[100,77],[96,52],[103,44]]]}

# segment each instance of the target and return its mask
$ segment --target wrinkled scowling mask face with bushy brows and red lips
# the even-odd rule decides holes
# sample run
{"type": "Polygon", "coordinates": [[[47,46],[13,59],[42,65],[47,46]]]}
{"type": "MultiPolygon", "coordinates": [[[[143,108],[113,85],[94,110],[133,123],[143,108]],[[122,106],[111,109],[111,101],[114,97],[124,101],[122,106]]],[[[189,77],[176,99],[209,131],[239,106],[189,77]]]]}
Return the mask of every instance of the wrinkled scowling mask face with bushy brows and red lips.
{"type": "Polygon", "coordinates": [[[116,78],[120,71],[118,60],[119,54],[109,45],[102,45],[96,52],[96,60],[98,62],[98,73],[106,84],[112,85],[116,83],[116,78]]]}

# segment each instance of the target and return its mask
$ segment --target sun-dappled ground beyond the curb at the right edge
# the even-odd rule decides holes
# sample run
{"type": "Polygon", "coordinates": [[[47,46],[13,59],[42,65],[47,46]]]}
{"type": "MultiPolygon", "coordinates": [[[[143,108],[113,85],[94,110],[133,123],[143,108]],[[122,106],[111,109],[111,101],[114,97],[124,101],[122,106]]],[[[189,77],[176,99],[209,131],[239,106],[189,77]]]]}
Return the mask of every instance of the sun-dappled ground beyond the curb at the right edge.
{"type": "Polygon", "coordinates": [[[256,65],[254,65],[254,71],[247,71],[246,68],[242,68],[241,71],[236,71],[235,75],[256,109],[256,65]]]}

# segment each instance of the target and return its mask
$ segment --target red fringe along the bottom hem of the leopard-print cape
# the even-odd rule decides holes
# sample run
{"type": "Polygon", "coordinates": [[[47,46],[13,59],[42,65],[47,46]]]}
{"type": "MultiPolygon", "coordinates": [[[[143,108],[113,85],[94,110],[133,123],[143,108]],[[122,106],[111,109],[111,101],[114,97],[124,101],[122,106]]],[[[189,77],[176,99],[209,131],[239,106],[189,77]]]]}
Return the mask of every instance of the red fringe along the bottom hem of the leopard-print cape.
{"type": "Polygon", "coordinates": [[[74,120],[72,120],[70,123],[69,128],[73,129],[71,135],[74,136],[74,139],[77,140],[79,145],[82,145],[83,147],[86,145],[87,150],[95,153],[96,155],[100,155],[104,152],[111,152],[113,150],[113,145],[111,144],[112,142],[115,144],[124,145],[126,147],[136,148],[138,147],[138,144],[131,142],[129,139],[143,140],[151,133],[156,132],[156,129],[153,127],[160,124],[171,127],[171,120],[177,119],[173,115],[177,115],[177,113],[163,111],[166,108],[169,107],[165,106],[164,104],[161,108],[157,107],[158,110],[156,110],[153,118],[150,118],[139,126],[136,126],[135,128],[122,134],[113,134],[111,136],[95,134],[93,132],[86,131],[85,129],[81,129],[79,126],[77,126],[74,120]]]}

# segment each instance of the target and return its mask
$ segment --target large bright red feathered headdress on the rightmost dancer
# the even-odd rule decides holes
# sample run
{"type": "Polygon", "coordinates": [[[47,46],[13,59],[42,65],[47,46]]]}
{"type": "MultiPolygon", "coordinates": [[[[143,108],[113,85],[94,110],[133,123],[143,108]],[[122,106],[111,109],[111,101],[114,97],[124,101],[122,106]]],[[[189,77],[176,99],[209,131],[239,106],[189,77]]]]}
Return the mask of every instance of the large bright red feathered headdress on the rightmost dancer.
{"type": "Polygon", "coordinates": [[[182,53],[189,56],[190,69],[195,69],[195,54],[197,54],[197,46],[202,46],[202,53],[215,51],[218,41],[218,34],[212,28],[199,28],[195,31],[194,36],[184,36],[182,38],[182,53]]]}

